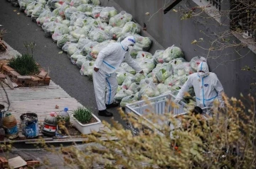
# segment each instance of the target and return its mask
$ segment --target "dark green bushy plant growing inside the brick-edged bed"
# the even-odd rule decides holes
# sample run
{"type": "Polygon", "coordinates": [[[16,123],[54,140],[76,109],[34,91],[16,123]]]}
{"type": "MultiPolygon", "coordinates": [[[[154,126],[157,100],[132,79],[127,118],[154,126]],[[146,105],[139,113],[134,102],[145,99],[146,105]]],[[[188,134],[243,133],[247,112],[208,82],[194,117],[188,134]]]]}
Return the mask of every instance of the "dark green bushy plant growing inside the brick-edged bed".
{"type": "Polygon", "coordinates": [[[36,61],[31,54],[22,54],[22,56],[14,57],[8,65],[23,76],[38,74],[39,72],[36,61]]]}

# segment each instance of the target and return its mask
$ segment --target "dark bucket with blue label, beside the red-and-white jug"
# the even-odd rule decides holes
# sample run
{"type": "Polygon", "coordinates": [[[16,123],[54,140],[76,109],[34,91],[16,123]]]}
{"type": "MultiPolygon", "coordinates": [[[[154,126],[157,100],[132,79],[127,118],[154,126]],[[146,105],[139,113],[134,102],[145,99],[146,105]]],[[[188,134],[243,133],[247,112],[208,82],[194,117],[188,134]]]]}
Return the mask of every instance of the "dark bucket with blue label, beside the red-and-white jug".
{"type": "Polygon", "coordinates": [[[26,138],[33,138],[39,135],[38,117],[34,112],[27,112],[21,115],[21,130],[26,138]]]}

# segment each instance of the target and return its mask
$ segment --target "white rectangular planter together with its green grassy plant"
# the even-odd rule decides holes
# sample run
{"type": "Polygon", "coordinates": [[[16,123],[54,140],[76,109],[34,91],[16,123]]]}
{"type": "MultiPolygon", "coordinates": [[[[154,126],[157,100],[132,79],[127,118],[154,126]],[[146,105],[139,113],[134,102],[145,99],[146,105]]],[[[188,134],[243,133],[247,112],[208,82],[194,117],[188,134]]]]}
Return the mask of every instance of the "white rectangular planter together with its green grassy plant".
{"type": "Polygon", "coordinates": [[[92,131],[99,132],[101,121],[93,115],[90,109],[78,107],[73,112],[73,125],[82,134],[91,134],[92,131]]]}

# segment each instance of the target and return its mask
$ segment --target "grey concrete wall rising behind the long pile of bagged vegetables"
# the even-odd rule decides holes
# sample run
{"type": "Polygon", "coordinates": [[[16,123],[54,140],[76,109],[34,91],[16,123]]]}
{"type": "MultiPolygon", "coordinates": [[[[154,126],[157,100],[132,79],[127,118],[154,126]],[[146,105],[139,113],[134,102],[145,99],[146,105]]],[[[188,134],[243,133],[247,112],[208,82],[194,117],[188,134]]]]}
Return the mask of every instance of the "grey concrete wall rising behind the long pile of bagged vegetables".
{"type": "MultiPolygon", "coordinates": [[[[252,83],[255,74],[241,71],[241,69],[246,65],[253,67],[256,63],[256,54],[247,47],[229,47],[217,52],[208,52],[206,49],[210,47],[209,42],[217,37],[213,33],[223,32],[228,27],[221,26],[215,19],[209,18],[206,13],[203,16],[208,17],[207,20],[197,17],[181,21],[181,13],[169,11],[164,14],[165,0],[101,0],[101,2],[102,6],[114,6],[118,11],[124,10],[131,13],[134,21],[140,25],[146,24],[146,31],[143,31],[142,35],[149,35],[153,38],[154,44],[149,51],[152,54],[156,49],[166,49],[171,45],[176,45],[181,47],[187,61],[196,56],[208,57],[210,71],[217,74],[228,96],[238,97],[240,93],[250,92],[249,84],[252,83]],[[150,15],[146,16],[146,12],[150,15]],[[199,38],[203,38],[200,45],[206,49],[191,45],[193,40],[199,38]],[[244,57],[239,59],[241,56],[244,57]]],[[[194,6],[197,5],[192,0],[184,0],[175,8],[180,11],[194,6]]],[[[234,36],[229,39],[230,42],[240,42],[234,36]]]]}

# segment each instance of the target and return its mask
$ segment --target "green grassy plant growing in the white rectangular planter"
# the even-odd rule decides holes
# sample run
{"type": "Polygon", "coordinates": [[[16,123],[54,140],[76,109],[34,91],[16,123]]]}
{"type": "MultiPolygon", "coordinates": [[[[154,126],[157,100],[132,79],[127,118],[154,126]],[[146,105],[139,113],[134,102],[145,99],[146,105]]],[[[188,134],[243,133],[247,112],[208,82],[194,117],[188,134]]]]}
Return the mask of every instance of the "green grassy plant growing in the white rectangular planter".
{"type": "Polygon", "coordinates": [[[92,119],[92,111],[85,107],[79,107],[74,111],[74,117],[82,124],[87,124],[92,119]]]}

